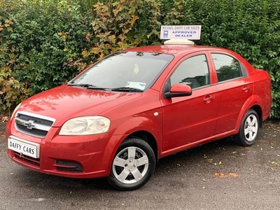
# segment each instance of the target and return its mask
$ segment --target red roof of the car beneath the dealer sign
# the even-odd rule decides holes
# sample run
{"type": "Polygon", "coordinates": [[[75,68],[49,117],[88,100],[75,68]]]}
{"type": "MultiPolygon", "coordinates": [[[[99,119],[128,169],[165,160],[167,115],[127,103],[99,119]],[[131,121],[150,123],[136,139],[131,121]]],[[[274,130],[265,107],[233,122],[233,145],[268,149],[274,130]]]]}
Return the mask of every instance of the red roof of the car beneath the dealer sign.
{"type": "Polygon", "coordinates": [[[223,48],[201,46],[201,45],[149,45],[136,48],[129,48],[122,51],[137,51],[137,52],[157,52],[170,55],[180,54],[181,52],[198,52],[202,50],[223,50],[230,51],[223,48]]]}

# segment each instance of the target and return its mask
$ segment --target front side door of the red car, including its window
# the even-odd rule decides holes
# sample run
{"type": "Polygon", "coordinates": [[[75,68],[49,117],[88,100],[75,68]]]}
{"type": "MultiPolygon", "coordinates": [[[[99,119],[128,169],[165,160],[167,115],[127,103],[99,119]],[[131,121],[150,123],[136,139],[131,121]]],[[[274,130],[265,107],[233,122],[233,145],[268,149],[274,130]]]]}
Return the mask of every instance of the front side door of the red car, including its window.
{"type": "Polygon", "coordinates": [[[166,86],[171,87],[176,83],[190,85],[193,94],[162,99],[163,154],[185,148],[214,134],[217,93],[216,86],[211,85],[211,78],[205,54],[189,55],[174,67],[166,86]]]}

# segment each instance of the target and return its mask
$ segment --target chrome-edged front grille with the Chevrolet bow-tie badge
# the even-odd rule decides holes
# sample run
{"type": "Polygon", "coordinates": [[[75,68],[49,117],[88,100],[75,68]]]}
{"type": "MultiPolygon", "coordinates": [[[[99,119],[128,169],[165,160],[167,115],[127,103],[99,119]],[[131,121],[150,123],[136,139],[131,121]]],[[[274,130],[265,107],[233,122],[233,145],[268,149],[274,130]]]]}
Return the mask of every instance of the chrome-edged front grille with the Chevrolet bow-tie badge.
{"type": "Polygon", "coordinates": [[[55,119],[39,116],[33,113],[18,112],[15,117],[15,127],[18,131],[34,137],[44,138],[55,119]]]}

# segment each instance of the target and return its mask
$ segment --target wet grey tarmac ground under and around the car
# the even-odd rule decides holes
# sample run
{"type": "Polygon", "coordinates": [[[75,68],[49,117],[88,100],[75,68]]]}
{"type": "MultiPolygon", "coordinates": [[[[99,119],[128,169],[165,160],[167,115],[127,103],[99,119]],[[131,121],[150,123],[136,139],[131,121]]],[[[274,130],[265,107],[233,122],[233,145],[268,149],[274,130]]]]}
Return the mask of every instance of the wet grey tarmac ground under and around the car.
{"type": "Polygon", "coordinates": [[[160,160],[146,186],[33,172],[6,154],[0,123],[0,209],[280,209],[280,126],[265,123],[251,147],[231,138],[160,160]]]}

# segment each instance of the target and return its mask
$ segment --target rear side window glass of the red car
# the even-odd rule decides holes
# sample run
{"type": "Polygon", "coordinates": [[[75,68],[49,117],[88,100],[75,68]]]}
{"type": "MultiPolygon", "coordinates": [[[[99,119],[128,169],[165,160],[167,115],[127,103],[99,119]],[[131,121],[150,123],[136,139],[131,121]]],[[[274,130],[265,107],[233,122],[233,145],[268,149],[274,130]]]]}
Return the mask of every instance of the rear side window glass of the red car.
{"type": "Polygon", "coordinates": [[[215,64],[218,82],[242,76],[240,64],[237,59],[223,54],[212,53],[211,55],[215,64]]]}

